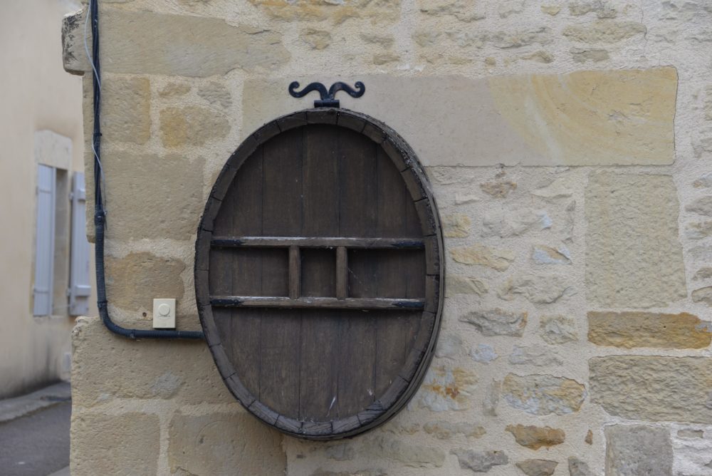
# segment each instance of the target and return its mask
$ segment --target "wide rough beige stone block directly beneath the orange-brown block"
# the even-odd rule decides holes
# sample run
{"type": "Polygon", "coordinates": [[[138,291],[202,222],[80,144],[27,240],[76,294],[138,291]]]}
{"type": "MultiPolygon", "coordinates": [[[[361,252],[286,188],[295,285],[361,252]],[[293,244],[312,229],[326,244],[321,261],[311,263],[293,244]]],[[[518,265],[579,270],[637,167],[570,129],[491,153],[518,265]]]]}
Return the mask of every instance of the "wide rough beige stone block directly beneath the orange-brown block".
{"type": "Polygon", "coordinates": [[[710,358],[608,356],[589,367],[591,400],[611,415],[712,424],[710,358]]]}

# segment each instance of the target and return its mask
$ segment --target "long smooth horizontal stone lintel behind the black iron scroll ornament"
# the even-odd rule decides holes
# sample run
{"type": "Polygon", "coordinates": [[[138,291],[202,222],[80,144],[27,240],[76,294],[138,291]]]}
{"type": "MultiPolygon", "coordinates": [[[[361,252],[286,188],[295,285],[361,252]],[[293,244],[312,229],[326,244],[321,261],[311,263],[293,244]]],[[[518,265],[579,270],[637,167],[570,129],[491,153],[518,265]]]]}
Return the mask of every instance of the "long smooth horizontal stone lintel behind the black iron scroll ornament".
{"type": "MultiPolygon", "coordinates": [[[[427,4],[426,9],[434,8],[430,1],[427,4]]],[[[428,29],[426,33],[429,37],[433,32],[428,29]]],[[[550,33],[539,31],[491,33],[485,39],[508,48],[537,41],[542,35],[550,40],[550,33]]],[[[471,35],[464,32],[458,38],[467,36],[471,35]]],[[[475,41],[481,43],[480,38],[475,41]]],[[[311,107],[311,95],[299,101],[273,93],[294,79],[302,84],[313,81],[308,77],[245,81],[246,132],[299,105],[311,107]]],[[[379,118],[402,133],[426,166],[661,165],[675,158],[674,68],[489,80],[386,75],[320,79],[325,84],[363,81],[368,92],[358,99],[341,96],[342,107],[379,118]],[[428,114],[422,114],[423,110],[428,114]]]]}

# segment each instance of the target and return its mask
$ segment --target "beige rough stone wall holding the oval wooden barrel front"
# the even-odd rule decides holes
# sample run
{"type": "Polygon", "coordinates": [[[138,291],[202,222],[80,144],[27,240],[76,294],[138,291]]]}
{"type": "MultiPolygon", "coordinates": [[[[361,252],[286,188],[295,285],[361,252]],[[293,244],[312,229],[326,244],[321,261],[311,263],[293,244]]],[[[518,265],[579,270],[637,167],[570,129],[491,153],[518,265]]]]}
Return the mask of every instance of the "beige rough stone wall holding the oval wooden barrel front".
{"type": "MultiPolygon", "coordinates": [[[[100,4],[115,321],[148,328],[174,296],[199,328],[199,214],[246,135],[310,106],[295,79],[364,81],[342,107],[416,150],[447,295],[407,410],[335,443],[258,423],[204,343],[83,319],[73,474],[712,475],[708,1],[100,4]]],[[[83,18],[63,35],[77,73],[83,18]]]]}

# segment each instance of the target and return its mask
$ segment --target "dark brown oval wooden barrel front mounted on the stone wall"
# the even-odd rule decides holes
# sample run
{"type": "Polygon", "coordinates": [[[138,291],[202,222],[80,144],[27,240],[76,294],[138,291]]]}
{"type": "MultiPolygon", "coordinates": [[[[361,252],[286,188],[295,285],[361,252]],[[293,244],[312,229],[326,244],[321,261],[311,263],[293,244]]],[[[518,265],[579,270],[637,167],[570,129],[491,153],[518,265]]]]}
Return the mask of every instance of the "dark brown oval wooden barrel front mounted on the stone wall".
{"type": "Polygon", "coordinates": [[[226,162],[201,218],[201,325],[235,397],[329,440],[401,410],[434,353],[443,239],[422,166],[349,110],[283,116],[226,162]]]}

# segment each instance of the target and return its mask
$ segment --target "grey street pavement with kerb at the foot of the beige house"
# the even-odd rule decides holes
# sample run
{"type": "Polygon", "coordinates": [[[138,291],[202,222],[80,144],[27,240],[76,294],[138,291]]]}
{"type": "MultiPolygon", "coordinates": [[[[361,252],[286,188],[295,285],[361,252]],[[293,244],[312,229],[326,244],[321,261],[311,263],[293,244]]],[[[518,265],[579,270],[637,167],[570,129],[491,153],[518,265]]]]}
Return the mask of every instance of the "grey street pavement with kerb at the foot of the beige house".
{"type": "Polygon", "coordinates": [[[72,404],[65,396],[67,389],[64,384],[64,388],[0,400],[0,475],[69,474],[72,404]]]}

